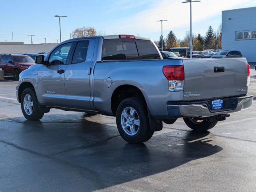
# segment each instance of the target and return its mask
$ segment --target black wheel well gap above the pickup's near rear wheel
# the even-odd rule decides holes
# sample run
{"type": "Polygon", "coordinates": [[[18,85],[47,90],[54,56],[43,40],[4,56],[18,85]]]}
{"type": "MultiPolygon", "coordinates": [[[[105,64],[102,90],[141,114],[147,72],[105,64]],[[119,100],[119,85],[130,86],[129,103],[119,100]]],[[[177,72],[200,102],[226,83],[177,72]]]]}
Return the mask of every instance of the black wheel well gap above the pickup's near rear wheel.
{"type": "Polygon", "coordinates": [[[122,85],[116,88],[111,97],[111,110],[116,115],[116,110],[120,102],[129,97],[140,97],[146,103],[146,100],[139,88],[132,85],[122,85]]]}

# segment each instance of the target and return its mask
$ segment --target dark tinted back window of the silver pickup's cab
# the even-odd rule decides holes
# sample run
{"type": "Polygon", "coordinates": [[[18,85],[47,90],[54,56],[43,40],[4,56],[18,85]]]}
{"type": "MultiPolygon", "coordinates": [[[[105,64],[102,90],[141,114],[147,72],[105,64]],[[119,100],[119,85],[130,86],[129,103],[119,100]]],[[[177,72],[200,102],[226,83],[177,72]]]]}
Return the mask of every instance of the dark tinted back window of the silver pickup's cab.
{"type": "Polygon", "coordinates": [[[149,40],[128,41],[121,39],[104,40],[102,60],[160,59],[154,44],[149,40]]]}

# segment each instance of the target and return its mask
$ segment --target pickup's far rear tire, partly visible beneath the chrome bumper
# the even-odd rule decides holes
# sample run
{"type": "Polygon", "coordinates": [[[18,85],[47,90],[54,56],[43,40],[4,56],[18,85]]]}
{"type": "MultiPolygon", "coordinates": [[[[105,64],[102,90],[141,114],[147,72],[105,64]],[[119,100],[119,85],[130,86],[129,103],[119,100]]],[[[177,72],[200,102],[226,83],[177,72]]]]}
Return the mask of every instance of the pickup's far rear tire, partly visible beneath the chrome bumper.
{"type": "Polygon", "coordinates": [[[197,132],[205,132],[206,130],[209,130],[213,128],[218,120],[216,118],[183,118],[186,125],[197,131],[197,132]]]}

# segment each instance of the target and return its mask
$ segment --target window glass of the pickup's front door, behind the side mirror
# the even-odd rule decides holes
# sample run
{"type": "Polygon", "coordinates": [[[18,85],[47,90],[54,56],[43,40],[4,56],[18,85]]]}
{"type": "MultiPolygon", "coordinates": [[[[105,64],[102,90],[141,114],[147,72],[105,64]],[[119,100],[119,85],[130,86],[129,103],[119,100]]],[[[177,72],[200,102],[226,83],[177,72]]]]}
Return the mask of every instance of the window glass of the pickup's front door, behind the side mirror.
{"type": "Polygon", "coordinates": [[[72,46],[71,43],[63,44],[59,47],[57,47],[52,53],[49,58],[50,65],[61,65],[66,64],[66,60],[68,57],[68,53],[70,51],[70,48],[72,46]]]}

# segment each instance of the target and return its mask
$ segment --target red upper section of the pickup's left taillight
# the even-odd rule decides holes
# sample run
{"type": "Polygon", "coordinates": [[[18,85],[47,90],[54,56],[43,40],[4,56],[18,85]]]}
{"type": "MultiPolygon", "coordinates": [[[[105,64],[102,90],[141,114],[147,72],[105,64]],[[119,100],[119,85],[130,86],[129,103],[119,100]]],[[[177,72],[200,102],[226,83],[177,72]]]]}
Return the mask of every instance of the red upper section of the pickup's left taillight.
{"type": "Polygon", "coordinates": [[[168,65],[163,66],[164,76],[170,80],[184,80],[183,65],[168,65]]]}

